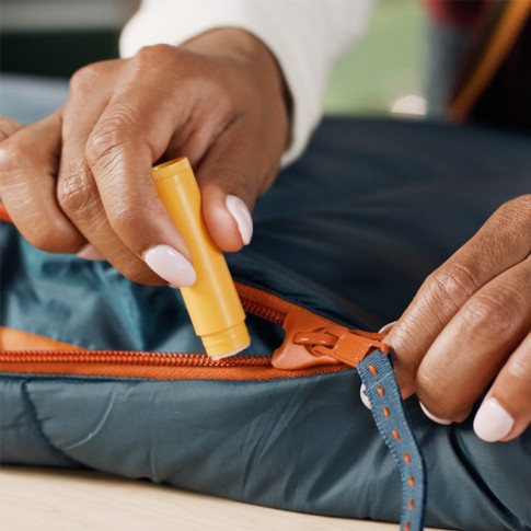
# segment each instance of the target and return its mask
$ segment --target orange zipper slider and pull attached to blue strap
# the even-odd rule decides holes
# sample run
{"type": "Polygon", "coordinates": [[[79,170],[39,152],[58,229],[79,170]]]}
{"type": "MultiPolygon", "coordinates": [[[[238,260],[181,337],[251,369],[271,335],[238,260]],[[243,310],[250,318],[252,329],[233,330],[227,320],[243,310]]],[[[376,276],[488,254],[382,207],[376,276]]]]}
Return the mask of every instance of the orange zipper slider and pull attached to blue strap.
{"type": "Polygon", "coordinates": [[[289,312],[282,327],[286,337],[272,356],[277,369],[340,363],[356,368],[372,350],[390,349],[381,343],[383,334],[353,331],[304,310],[289,312]]]}

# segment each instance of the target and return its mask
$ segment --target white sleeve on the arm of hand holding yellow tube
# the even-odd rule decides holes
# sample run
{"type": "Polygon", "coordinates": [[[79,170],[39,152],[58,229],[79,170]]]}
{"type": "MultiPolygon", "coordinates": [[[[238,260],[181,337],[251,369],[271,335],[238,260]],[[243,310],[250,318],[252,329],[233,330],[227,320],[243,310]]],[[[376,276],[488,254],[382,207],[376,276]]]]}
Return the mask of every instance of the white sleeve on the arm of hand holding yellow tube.
{"type": "Polygon", "coordinates": [[[178,45],[213,27],[241,27],[275,55],[293,99],[286,164],[321,118],[334,59],[365,30],[374,0],[143,0],[120,38],[123,57],[142,46],[178,45]]]}

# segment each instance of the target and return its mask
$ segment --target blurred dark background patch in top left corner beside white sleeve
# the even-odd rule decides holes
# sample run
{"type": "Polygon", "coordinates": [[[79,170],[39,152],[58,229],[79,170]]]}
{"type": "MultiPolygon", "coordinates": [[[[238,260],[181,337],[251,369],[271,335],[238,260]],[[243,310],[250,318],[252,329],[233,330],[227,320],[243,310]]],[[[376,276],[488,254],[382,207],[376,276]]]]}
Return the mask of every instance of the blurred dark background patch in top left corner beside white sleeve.
{"type": "Polygon", "coordinates": [[[1,0],[3,72],[69,78],[118,57],[122,27],[138,0],[1,0]]]}

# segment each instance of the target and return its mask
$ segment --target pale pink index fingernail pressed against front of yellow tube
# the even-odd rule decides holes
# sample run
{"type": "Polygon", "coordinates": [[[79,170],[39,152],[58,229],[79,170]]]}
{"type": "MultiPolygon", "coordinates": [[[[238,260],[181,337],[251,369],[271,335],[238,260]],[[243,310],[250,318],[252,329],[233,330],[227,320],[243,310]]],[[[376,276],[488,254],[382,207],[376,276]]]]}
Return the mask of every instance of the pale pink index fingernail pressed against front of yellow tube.
{"type": "Polygon", "coordinates": [[[143,254],[143,262],[176,288],[187,288],[196,281],[196,272],[192,264],[170,245],[157,245],[143,254]]]}

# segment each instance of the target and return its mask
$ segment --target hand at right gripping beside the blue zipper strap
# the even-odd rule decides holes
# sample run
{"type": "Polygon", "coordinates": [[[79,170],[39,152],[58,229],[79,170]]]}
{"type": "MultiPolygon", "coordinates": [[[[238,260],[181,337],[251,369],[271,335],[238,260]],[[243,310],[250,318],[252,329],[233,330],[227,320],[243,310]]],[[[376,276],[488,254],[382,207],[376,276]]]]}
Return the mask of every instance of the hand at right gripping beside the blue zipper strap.
{"type": "Polygon", "coordinates": [[[385,337],[404,396],[485,440],[531,423],[531,195],[503,205],[423,284],[385,337]]]}

